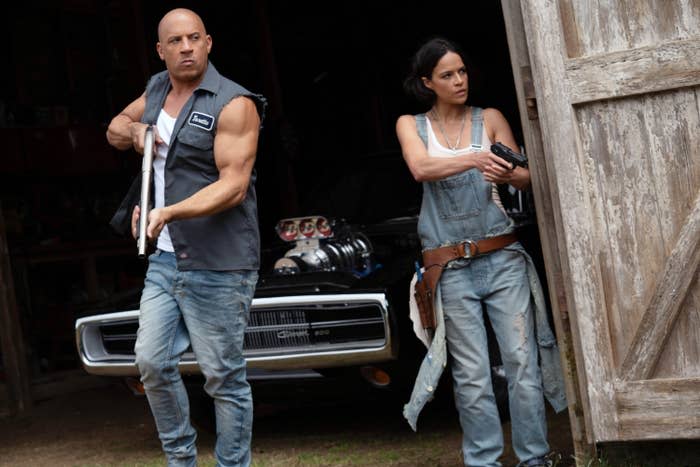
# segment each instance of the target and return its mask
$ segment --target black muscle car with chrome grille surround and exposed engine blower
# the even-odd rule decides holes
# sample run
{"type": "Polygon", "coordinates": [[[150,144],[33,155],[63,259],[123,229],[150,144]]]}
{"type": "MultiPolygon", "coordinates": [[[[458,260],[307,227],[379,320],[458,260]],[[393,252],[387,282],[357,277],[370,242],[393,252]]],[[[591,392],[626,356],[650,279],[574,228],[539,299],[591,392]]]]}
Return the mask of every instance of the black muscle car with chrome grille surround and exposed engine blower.
{"type": "MultiPolygon", "coordinates": [[[[342,373],[407,395],[425,355],[408,310],[409,283],[420,258],[421,185],[398,153],[373,154],[334,177],[326,175],[318,174],[325,183],[305,193],[312,201],[301,203],[313,211],[280,220],[279,240],[263,250],[245,333],[249,378],[342,373]]],[[[516,194],[515,216],[526,211],[522,196],[516,194]]],[[[137,308],[138,302],[77,320],[77,346],[89,373],[138,376],[137,308]]],[[[503,408],[497,347],[489,352],[503,408]]],[[[185,353],[180,370],[199,373],[193,353],[185,353]]]]}

